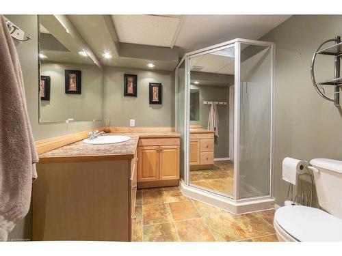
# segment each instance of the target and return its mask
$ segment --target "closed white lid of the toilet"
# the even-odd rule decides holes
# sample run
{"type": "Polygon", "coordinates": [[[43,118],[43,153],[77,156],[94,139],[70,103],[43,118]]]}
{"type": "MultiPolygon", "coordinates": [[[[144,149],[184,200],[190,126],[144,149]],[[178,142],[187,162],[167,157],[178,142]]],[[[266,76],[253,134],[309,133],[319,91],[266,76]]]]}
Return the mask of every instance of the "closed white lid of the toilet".
{"type": "Polygon", "coordinates": [[[342,220],[317,208],[289,205],[276,210],[274,221],[304,242],[342,242],[342,220]]]}

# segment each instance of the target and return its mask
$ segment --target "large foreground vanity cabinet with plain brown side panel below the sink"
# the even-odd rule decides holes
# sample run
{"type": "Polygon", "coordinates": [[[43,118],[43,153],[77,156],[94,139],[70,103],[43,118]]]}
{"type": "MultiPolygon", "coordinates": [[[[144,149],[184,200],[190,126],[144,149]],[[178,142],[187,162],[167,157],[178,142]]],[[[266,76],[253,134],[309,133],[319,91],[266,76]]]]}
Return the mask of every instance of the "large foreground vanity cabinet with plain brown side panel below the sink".
{"type": "Polygon", "coordinates": [[[131,241],[137,152],[127,160],[39,162],[32,240],[131,241]]]}

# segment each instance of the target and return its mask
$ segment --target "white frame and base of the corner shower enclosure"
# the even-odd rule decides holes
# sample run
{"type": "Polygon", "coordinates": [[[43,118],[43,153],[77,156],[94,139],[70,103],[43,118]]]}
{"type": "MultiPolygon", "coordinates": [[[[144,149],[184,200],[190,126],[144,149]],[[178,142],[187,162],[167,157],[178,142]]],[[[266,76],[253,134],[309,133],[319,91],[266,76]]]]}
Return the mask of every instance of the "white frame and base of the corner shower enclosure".
{"type": "MultiPolygon", "coordinates": [[[[178,81],[178,68],[181,66],[183,61],[185,61],[185,122],[184,122],[184,180],[180,181],[180,188],[184,195],[187,197],[192,197],[198,201],[214,205],[215,207],[222,208],[233,214],[244,214],[247,212],[257,212],[261,210],[267,210],[274,208],[274,99],[275,99],[275,57],[276,57],[276,47],[273,42],[265,42],[259,40],[248,40],[242,38],[235,38],[221,44],[215,44],[206,48],[202,48],[197,51],[192,51],[186,53],[178,66],[176,66],[175,72],[175,96],[177,96],[177,81],[178,81]],[[270,138],[270,165],[269,165],[269,195],[248,197],[244,199],[239,199],[239,104],[240,104],[240,55],[241,55],[241,43],[250,44],[257,46],[265,46],[271,48],[271,138],[270,138]],[[197,57],[207,53],[212,53],[214,51],[219,51],[225,48],[235,47],[235,107],[234,107],[234,184],[233,184],[233,197],[228,197],[227,195],[213,193],[205,188],[199,188],[196,186],[189,185],[189,100],[190,100],[190,62],[189,59],[192,57],[197,57]]],[[[176,97],[175,97],[176,98],[176,97]]],[[[175,99],[175,124],[177,128],[177,98],[175,99]]]]}

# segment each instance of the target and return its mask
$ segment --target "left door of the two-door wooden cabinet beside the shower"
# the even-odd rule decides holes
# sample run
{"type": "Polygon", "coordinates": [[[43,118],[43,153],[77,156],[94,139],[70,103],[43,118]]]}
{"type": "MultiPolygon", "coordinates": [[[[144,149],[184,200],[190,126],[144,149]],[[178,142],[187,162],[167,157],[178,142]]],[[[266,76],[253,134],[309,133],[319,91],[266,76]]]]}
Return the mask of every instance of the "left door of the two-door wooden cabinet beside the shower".
{"type": "Polygon", "coordinates": [[[159,180],[159,146],[139,147],[138,182],[159,180]]]}

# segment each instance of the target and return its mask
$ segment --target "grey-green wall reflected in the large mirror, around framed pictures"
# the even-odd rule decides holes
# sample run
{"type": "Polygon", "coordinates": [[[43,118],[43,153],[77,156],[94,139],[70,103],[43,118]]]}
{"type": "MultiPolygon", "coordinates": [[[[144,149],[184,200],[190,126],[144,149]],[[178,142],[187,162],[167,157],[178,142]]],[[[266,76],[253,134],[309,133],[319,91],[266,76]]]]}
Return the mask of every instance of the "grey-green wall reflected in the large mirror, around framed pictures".
{"type": "Polygon", "coordinates": [[[50,76],[50,100],[40,101],[41,122],[102,120],[103,72],[96,65],[44,61],[41,75],[50,76]],[[81,94],[65,93],[65,70],[81,70],[81,94]]]}

